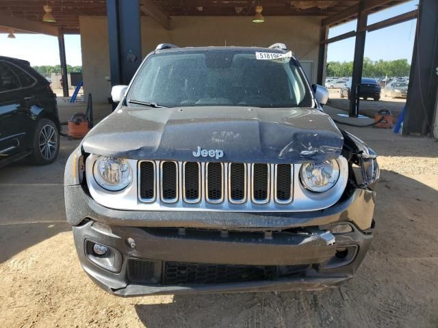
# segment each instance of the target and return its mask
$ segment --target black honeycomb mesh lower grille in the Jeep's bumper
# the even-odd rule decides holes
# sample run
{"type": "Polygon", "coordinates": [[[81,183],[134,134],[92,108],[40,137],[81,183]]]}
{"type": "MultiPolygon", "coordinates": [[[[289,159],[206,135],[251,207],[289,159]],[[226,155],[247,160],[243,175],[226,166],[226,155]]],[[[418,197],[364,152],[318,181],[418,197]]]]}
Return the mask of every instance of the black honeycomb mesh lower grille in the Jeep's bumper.
{"type": "Polygon", "coordinates": [[[224,284],[276,277],[275,266],[166,262],[163,284],[224,284]]]}

